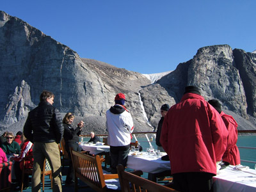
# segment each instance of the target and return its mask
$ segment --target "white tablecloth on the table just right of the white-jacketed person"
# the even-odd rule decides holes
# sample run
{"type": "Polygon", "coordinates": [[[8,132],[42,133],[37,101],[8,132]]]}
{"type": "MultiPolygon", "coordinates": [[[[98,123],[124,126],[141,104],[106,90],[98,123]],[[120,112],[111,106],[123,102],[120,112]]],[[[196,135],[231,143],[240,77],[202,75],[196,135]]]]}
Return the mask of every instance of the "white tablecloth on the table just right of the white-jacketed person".
{"type": "Polygon", "coordinates": [[[131,154],[132,152],[128,156],[127,168],[147,173],[160,173],[171,169],[170,161],[162,161],[161,157],[148,156],[147,152],[143,152],[142,156],[132,156],[131,154]]]}

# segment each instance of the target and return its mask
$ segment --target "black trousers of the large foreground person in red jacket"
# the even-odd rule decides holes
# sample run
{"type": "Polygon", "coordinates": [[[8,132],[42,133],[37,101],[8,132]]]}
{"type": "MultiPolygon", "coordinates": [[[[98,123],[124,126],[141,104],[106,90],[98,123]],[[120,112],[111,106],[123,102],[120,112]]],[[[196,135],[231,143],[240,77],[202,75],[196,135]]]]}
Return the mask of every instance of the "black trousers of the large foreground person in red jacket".
{"type": "Polygon", "coordinates": [[[182,192],[212,192],[212,176],[203,172],[175,173],[168,186],[182,192]]]}

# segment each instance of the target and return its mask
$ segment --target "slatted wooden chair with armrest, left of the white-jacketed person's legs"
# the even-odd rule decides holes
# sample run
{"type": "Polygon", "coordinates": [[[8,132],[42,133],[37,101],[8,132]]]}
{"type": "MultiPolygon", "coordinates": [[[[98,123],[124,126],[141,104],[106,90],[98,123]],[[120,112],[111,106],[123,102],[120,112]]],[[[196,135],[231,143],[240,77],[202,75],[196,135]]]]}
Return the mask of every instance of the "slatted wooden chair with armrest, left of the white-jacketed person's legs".
{"type": "Polygon", "coordinates": [[[103,174],[99,156],[88,156],[81,152],[71,150],[71,157],[75,172],[76,192],[78,190],[78,178],[86,183],[87,187],[95,191],[108,191],[105,180],[118,178],[117,174],[103,174]]]}

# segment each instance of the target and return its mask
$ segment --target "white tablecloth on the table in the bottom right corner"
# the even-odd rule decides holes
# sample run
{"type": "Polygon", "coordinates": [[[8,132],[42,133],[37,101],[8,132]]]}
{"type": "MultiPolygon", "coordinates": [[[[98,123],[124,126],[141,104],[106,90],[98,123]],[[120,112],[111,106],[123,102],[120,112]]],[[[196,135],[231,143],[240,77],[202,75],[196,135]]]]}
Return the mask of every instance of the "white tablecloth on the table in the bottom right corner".
{"type": "Polygon", "coordinates": [[[235,170],[234,166],[220,170],[220,173],[213,177],[214,192],[255,192],[256,191],[256,170],[235,170]]]}

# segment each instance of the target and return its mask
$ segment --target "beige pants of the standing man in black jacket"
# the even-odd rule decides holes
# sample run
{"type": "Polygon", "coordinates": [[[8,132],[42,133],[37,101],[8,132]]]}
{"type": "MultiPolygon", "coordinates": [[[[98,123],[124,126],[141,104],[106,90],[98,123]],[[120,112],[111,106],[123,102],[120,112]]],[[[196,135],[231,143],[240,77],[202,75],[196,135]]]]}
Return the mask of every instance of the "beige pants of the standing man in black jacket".
{"type": "Polygon", "coordinates": [[[62,191],[61,161],[58,144],[56,142],[35,142],[33,146],[34,163],[32,175],[32,192],[41,191],[41,170],[44,166],[45,157],[48,159],[52,169],[52,191],[62,191]]]}

